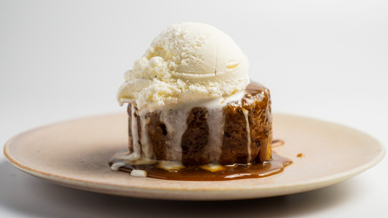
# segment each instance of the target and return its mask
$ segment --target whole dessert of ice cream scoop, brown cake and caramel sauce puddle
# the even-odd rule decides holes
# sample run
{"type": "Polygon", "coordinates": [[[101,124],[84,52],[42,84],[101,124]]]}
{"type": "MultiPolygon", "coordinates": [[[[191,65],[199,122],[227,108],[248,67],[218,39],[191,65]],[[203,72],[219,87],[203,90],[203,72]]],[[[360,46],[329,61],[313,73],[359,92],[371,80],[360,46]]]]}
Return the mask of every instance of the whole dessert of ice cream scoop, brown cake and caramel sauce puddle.
{"type": "Polygon", "coordinates": [[[111,168],[178,180],[282,171],[289,163],[271,163],[270,92],[250,82],[248,65],[233,39],[210,25],[162,31],[117,92],[118,103],[128,103],[129,150],[111,168]]]}

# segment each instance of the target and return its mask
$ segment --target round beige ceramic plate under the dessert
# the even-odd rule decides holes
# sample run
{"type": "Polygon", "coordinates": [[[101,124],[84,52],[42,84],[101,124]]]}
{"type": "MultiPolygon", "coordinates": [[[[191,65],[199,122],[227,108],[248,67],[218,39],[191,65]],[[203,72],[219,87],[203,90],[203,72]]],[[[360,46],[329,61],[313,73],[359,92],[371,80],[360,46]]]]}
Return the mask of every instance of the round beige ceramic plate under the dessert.
{"type": "Polygon", "coordinates": [[[127,147],[126,114],[68,121],[22,133],[4,147],[7,160],[38,178],[93,192],[180,200],[228,200],[287,195],[349,179],[380,162],[386,150],[371,136],[341,125],[274,115],[274,150],[293,160],[260,179],[169,181],[111,171],[109,158],[127,147]],[[297,157],[303,153],[304,157],[297,157]]]}

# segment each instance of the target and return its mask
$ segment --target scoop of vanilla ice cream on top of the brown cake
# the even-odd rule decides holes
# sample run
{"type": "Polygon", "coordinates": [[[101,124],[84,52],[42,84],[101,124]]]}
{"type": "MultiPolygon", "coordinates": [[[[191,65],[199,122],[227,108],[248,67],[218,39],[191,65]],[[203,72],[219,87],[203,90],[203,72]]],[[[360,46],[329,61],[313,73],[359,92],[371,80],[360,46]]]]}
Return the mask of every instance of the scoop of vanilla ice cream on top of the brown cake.
{"type": "Polygon", "coordinates": [[[207,24],[182,22],[158,35],[124,73],[117,101],[150,111],[226,97],[249,84],[248,58],[231,37],[207,24]]]}

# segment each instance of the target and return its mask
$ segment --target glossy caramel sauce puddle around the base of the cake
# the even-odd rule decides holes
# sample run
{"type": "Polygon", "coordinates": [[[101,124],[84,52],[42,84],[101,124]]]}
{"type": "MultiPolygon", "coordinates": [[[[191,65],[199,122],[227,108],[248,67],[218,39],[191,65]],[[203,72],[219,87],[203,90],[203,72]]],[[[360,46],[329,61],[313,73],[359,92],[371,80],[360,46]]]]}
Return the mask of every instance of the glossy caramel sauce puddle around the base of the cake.
{"type": "MultiPolygon", "coordinates": [[[[273,141],[273,144],[275,140],[273,141]]],[[[276,141],[277,146],[283,144],[276,141]]],[[[109,160],[109,165],[115,163],[123,163],[122,160],[113,156],[109,160]]],[[[129,165],[125,164],[118,168],[120,171],[130,173],[132,170],[144,170],[147,172],[147,177],[165,180],[179,181],[227,181],[236,179],[250,179],[271,176],[283,172],[284,168],[290,165],[292,161],[289,158],[282,157],[276,153],[272,153],[271,161],[264,163],[251,164],[233,164],[221,166],[223,169],[215,172],[201,169],[203,166],[185,165],[183,169],[165,170],[157,167],[157,164],[150,165],[129,165]]],[[[208,166],[208,165],[207,165],[208,166]]]]}

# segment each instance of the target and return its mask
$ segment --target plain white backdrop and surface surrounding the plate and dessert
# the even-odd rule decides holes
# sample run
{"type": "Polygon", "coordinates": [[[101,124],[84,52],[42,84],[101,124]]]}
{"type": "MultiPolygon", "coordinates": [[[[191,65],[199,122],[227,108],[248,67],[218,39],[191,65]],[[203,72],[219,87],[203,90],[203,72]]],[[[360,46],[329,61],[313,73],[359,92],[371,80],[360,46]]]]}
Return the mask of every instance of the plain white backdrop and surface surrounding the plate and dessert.
{"type": "MultiPolygon", "coordinates": [[[[0,1],[0,142],[38,126],[124,112],[123,72],[168,25],[211,24],[250,60],[275,112],[340,123],[388,145],[388,3],[284,1],[0,1]]],[[[54,185],[0,155],[0,217],[385,217],[388,160],[316,191],[180,202],[54,185]]]]}

